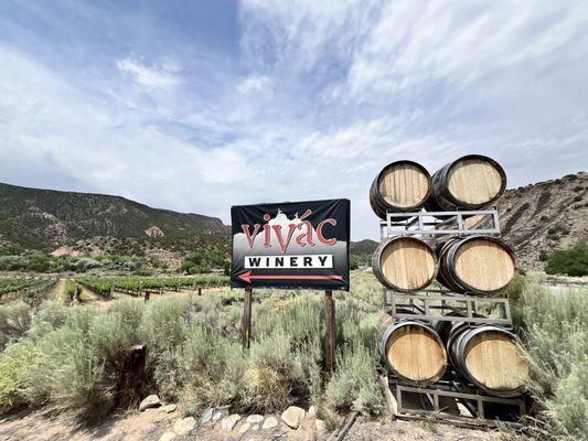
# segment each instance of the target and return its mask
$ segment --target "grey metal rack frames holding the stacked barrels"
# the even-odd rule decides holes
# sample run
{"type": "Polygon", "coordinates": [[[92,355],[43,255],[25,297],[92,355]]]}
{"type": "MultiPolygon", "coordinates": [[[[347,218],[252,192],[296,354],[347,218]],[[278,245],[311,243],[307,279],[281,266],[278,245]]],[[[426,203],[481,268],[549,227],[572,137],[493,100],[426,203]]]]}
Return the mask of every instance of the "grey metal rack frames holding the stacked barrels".
{"type": "MultiPolygon", "coordinates": [[[[456,212],[387,212],[386,219],[379,222],[379,234],[381,241],[398,236],[435,240],[442,236],[500,237],[501,229],[496,207],[489,207],[456,212]]],[[[481,297],[469,292],[456,293],[445,288],[402,293],[383,287],[383,309],[397,320],[494,324],[512,330],[509,299],[502,293],[481,297]],[[492,309],[493,316],[484,316],[481,311],[484,305],[492,309]]],[[[443,377],[427,386],[408,383],[381,366],[381,383],[393,418],[432,417],[462,424],[520,427],[517,421],[525,415],[523,397],[491,396],[469,383],[451,366],[443,377]]]]}

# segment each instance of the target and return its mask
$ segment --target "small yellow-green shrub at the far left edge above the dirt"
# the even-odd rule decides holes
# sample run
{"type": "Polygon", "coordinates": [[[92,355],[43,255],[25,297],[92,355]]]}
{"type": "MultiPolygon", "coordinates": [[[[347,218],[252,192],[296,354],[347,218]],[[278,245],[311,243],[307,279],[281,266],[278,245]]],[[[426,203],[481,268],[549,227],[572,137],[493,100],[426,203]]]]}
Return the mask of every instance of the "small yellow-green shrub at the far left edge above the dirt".
{"type": "Polygon", "coordinates": [[[28,404],[26,387],[39,361],[32,342],[12,344],[0,354],[0,415],[28,404]]]}

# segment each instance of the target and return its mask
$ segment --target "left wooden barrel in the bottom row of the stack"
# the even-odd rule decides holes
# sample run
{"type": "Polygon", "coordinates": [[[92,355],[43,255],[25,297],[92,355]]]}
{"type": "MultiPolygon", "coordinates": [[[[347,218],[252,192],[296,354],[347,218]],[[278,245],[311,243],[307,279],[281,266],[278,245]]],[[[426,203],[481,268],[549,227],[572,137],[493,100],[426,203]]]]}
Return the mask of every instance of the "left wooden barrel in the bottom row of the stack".
{"type": "Polygon", "coordinates": [[[377,322],[376,338],[382,359],[398,377],[429,384],[443,375],[447,353],[429,324],[413,319],[395,321],[386,313],[377,322]]]}

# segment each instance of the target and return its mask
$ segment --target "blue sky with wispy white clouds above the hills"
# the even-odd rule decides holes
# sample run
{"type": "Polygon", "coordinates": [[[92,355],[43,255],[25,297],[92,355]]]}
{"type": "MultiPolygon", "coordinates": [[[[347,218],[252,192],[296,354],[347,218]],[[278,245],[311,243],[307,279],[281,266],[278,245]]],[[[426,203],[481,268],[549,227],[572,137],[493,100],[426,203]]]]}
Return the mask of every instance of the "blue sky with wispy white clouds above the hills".
{"type": "Polygon", "coordinates": [[[0,1],[0,182],[221,217],[462,154],[588,169],[587,1],[0,1]]]}

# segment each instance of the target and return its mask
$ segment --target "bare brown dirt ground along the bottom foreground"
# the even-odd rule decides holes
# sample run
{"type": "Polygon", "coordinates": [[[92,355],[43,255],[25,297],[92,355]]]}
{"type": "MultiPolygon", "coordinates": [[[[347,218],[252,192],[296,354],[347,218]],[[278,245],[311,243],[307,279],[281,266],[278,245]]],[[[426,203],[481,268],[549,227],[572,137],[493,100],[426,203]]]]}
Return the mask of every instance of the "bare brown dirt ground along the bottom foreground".
{"type": "MultiPolygon", "coordinates": [[[[96,424],[79,423],[71,415],[51,416],[47,412],[15,413],[0,420],[0,441],[158,441],[173,431],[178,412],[164,413],[158,409],[127,412],[110,417],[96,424]]],[[[298,430],[284,424],[270,430],[238,433],[238,424],[231,433],[221,430],[221,423],[196,427],[174,441],[327,441],[329,432],[317,435],[314,422],[307,417],[298,430]]],[[[366,421],[360,418],[351,428],[346,441],[493,441],[500,433],[492,430],[464,429],[431,421],[366,421]]]]}

